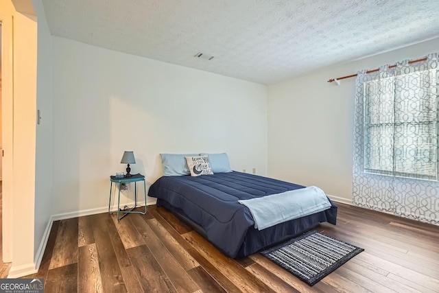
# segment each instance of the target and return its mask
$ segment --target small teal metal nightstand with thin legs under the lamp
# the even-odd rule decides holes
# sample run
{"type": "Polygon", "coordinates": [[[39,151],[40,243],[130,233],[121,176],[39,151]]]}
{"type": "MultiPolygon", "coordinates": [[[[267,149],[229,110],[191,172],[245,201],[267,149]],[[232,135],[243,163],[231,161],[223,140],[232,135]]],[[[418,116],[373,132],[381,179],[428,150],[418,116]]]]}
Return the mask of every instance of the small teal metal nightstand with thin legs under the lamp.
{"type": "Polygon", "coordinates": [[[142,215],[145,215],[146,213],[146,183],[145,183],[145,176],[142,174],[132,174],[131,177],[116,177],[116,176],[110,176],[110,200],[108,202],[108,213],[117,213],[117,221],[120,221],[123,217],[128,215],[128,213],[141,213],[142,215]],[[133,211],[137,207],[137,182],[143,181],[143,191],[145,194],[145,211],[133,211]],[[134,206],[131,208],[128,208],[128,210],[121,209],[119,207],[120,200],[121,200],[121,185],[123,183],[134,183],[134,206]],[[119,183],[119,195],[117,196],[117,211],[110,211],[110,205],[111,205],[111,191],[112,191],[112,184],[113,183],[119,183]],[[119,218],[119,213],[124,213],[119,218]]]}

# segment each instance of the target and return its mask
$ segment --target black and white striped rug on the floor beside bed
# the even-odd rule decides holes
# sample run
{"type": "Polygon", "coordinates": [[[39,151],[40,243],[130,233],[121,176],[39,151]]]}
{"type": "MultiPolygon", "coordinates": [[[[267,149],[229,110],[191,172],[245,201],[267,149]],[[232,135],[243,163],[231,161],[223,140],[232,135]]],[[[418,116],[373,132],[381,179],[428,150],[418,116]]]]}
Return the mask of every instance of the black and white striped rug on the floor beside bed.
{"type": "Polygon", "coordinates": [[[300,280],[314,285],[361,251],[364,249],[311,231],[262,254],[300,280]]]}

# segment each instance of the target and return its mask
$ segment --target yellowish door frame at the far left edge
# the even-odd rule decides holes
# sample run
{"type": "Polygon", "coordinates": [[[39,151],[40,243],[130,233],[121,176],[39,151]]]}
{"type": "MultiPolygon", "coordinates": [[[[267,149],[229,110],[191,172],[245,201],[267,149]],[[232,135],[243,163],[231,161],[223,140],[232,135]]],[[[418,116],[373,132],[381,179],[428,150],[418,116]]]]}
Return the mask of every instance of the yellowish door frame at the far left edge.
{"type": "Polygon", "coordinates": [[[1,22],[1,144],[3,262],[12,261],[12,194],[14,141],[13,16],[0,14],[1,22]]]}

